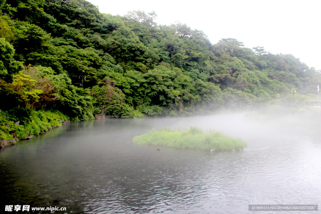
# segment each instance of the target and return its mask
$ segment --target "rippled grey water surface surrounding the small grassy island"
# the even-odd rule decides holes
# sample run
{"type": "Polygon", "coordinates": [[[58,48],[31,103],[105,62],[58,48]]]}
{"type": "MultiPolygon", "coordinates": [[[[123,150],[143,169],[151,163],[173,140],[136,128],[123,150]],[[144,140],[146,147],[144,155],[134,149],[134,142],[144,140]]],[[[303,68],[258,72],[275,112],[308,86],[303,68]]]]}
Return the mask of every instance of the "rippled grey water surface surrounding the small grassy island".
{"type": "Polygon", "coordinates": [[[319,142],[246,122],[243,115],[72,123],[1,150],[0,209],[247,213],[248,204],[317,204],[320,155],[319,142]],[[191,125],[239,137],[247,149],[157,151],[131,142],[153,127],[191,125]]]}

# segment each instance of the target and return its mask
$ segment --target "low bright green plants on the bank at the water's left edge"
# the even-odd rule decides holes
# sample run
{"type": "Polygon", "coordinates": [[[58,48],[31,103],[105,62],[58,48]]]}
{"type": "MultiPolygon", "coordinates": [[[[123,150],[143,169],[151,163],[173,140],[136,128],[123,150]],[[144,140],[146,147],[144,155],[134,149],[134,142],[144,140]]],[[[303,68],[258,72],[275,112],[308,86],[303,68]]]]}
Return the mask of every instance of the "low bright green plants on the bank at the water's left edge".
{"type": "Polygon", "coordinates": [[[70,118],[59,111],[0,110],[0,147],[14,145],[19,140],[30,139],[67,123],[70,118]]]}

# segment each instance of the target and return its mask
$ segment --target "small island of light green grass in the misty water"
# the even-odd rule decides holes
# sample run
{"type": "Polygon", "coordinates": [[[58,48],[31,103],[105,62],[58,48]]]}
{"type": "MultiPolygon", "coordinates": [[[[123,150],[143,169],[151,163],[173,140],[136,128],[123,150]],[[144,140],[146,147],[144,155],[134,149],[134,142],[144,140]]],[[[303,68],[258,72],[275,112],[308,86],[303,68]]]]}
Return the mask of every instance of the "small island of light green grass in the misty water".
{"type": "Polygon", "coordinates": [[[171,131],[162,128],[160,131],[152,131],[135,136],[136,144],[160,145],[176,148],[197,148],[204,150],[230,150],[243,149],[247,143],[240,139],[224,136],[221,132],[203,132],[203,129],[192,126],[190,129],[171,131]]]}

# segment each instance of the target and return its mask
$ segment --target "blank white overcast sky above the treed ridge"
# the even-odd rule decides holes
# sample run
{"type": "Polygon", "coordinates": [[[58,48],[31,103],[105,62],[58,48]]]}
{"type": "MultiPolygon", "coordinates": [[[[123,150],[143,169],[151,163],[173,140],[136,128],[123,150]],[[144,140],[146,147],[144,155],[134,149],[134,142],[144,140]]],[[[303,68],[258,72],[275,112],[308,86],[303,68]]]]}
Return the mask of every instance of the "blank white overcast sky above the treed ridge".
{"type": "Polygon", "coordinates": [[[100,13],[155,11],[161,25],[175,21],[203,30],[212,44],[235,38],[245,47],[263,46],[273,54],[292,54],[321,69],[320,0],[87,0],[100,13]]]}

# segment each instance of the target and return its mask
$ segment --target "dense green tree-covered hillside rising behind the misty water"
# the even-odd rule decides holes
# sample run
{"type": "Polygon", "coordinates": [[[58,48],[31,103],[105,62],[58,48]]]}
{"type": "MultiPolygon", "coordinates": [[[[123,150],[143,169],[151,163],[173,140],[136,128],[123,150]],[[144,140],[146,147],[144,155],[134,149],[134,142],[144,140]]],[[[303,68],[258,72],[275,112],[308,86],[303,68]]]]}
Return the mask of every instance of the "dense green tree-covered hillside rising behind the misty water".
{"type": "Polygon", "coordinates": [[[84,0],[0,2],[3,121],[21,109],[87,120],[206,114],[317,97],[320,72],[294,56],[232,38],[212,44],[187,24],[158,25],[155,12],[114,16],[84,0]]]}

